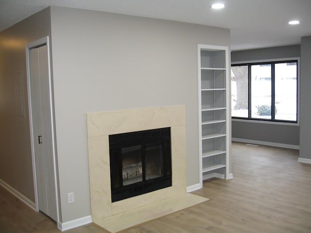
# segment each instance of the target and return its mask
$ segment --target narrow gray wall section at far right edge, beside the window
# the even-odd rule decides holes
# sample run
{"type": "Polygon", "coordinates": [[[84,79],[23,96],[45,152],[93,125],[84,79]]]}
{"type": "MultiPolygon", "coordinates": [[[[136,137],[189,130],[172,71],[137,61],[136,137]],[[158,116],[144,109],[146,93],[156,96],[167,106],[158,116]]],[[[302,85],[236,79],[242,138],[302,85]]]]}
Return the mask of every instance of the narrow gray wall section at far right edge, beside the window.
{"type": "Polygon", "coordinates": [[[311,36],[301,38],[300,150],[299,157],[311,159],[311,36]]]}

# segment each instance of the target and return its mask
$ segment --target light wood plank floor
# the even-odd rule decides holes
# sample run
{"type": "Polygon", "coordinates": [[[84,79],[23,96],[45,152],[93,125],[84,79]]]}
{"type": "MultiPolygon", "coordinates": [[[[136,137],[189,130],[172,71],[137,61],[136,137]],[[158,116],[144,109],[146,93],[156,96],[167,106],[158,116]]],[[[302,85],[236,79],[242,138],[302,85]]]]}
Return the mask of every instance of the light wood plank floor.
{"type": "MultiPolygon", "coordinates": [[[[233,143],[234,179],[210,179],[193,192],[209,201],[125,233],[311,233],[311,165],[297,159],[297,150],[233,143]]],[[[93,224],[66,231],[104,232],[93,224]]],[[[0,187],[0,233],[59,231],[0,187]]]]}

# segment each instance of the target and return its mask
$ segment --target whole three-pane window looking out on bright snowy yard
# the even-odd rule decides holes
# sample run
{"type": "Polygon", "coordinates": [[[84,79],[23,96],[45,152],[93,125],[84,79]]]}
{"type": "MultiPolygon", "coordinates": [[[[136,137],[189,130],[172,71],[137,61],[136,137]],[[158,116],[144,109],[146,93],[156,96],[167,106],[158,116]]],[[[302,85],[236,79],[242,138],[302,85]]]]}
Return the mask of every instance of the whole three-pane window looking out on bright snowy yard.
{"type": "Polygon", "coordinates": [[[297,65],[297,60],[232,65],[232,117],[297,122],[297,65]]]}

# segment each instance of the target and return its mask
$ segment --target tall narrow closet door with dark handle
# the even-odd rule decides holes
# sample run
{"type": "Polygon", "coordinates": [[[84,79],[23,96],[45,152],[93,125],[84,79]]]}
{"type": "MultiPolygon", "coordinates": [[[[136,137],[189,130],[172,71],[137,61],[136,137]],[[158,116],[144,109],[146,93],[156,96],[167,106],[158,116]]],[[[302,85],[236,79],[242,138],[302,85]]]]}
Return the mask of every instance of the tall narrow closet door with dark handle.
{"type": "Polygon", "coordinates": [[[46,45],[29,50],[29,66],[39,210],[56,221],[55,169],[46,45]]]}

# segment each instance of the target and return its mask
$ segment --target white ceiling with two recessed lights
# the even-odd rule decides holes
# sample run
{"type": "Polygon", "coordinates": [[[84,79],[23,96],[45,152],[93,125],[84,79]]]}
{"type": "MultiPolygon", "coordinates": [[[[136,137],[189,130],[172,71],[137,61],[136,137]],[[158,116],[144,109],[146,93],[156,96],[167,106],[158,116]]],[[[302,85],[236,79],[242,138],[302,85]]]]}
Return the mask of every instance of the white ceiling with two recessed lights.
{"type": "Polygon", "coordinates": [[[229,28],[231,50],[296,45],[311,35],[311,0],[0,0],[0,31],[48,6],[229,28]],[[215,2],[225,8],[211,9],[215,2]],[[301,23],[287,24],[294,19],[301,23]]]}

